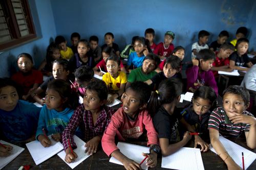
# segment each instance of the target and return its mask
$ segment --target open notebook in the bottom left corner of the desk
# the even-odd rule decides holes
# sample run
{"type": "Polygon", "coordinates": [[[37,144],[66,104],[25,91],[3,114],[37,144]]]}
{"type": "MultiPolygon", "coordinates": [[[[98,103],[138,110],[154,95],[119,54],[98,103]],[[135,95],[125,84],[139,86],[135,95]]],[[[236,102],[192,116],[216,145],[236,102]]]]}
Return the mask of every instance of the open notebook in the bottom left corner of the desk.
{"type": "Polygon", "coordinates": [[[8,143],[8,142],[6,142],[4,140],[0,140],[0,142],[3,143],[3,144],[9,144],[9,145],[11,145],[13,147],[11,155],[9,155],[8,157],[0,157],[0,169],[2,169],[8,163],[10,163],[13,159],[15,159],[20,153],[22,153],[25,149],[24,148],[20,148],[17,145],[14,145],[12,143],[8,143]]]}

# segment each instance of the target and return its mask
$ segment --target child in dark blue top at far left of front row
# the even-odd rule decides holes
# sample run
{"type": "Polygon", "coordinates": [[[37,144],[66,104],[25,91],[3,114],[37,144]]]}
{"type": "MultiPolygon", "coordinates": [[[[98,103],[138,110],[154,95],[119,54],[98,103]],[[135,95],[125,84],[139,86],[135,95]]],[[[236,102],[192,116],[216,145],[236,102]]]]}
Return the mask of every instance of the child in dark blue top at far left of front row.
{"type": "Polygon", "coordinates": [[[0,134],[8,141],[34,139],[41,108],[19,100],[18,86],[9,78],[0,78],[0,134]]]}

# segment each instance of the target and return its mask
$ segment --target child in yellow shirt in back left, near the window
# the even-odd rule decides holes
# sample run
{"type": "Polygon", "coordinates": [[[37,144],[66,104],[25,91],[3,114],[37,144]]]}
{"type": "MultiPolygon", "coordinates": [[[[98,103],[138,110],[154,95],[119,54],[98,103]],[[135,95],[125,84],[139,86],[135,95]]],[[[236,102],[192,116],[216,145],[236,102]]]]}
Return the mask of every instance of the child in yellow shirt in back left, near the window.
{"type": "Polygon", "coordinates": [[[67,46],[67,41],[63,36],[57,36],[55,38],[55,43],[60,48],[61,58],[69,60],[72,56],[74,56],[72,49],[67,46]]]}

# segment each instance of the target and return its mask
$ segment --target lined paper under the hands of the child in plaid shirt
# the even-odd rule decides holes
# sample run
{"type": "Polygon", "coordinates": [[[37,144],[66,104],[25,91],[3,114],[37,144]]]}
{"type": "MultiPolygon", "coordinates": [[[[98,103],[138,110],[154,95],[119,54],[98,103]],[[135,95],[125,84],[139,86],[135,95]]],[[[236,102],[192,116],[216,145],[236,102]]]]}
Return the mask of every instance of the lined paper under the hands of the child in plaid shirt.
{"type": "Polygon", "coordinates": [[[86,145],[86,142],[82,141],[79,137],[77,137],[76,135],[74,135],[74,141],[76,143],[76,149],[74,149],[73,151],[77,154],[77,158],[75,160],[75,162],[72,163],[67,163],[65,161],[65,157],[66,157],[66,152],[63,150],[62,152],[58,153],[57,155],[64,161],[66,162],[72,169],[74,167],[76,167],[77,165],[79,165],[82,161],[84,161],[85,159],[87,159],[90,155],[87,155],[87,153],[84,153],[86,151],[86,147],[84,147],[84,145],[86,145]]]}

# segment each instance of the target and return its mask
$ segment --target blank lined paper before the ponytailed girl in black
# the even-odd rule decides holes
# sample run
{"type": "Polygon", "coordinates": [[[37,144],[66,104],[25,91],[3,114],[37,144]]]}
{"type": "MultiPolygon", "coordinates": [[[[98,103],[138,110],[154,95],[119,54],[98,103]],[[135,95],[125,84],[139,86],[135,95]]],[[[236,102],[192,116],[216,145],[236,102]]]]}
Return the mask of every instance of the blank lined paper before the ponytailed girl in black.
{"type": "Polygon", "coordinates": [[[172,155],[163,157],[161,167],[170,169],[204,169],[200,149],[182,147],[172,155]]]}

